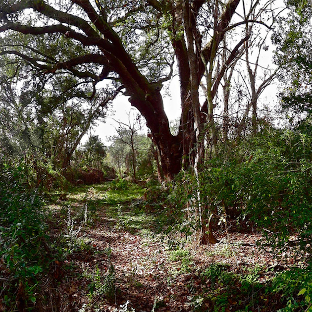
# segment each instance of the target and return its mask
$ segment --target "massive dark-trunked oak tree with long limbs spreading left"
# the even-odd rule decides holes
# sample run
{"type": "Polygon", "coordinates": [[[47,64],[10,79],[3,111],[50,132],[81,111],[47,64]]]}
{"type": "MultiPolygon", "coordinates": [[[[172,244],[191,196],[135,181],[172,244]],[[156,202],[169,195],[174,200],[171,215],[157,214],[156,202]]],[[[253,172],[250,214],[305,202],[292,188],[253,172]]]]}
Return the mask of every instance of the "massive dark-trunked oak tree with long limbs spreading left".
{"type": "MultiPolygon", "coordinates": [[[[51,92],[55,77],[73,76],[70,88],[75,96],[90,99],[100,81],[109,81],[145,117],[163,173],[171,178],[181,169],[182,159],[186,166],[194,161],[195,147],[203,150],[198,145],[203,125],[212,120],[212,99],[224,72],[211,78],[215,55],[233,28],[230,21],[239,1],[2,1],[1,65],[17,64],[18,71],[27,63],[45,77],[51,92]],[[170,133],[160,94],[162,83],[172,76],[175,58],[182,103],[178,135],[170,133]],[[205,72],[208,96],[200,105],[198,88],[205,72]]],[[[248,18],[238,24],[244,23],[248,18]]],[[[246,40],[248,36],[238,38],[226,66],[246,40]]]]}

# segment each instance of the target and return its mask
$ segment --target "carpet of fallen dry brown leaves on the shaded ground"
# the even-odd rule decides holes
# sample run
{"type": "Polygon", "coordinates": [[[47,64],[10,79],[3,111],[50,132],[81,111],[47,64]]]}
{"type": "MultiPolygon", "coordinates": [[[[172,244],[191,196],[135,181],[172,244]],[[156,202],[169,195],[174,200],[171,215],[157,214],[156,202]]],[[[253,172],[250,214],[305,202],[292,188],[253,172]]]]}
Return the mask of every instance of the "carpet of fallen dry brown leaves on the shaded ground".
{"type": "MultiPolygon", "coordinates": [[[[196,305],[202,305],[201,309],[205,311],[213,309],[213,300],[208,299],[207,294],[217,288],[218,294],[223,295],[224,292],[227,295],[224,311],[235,311],[241,309],[242,298],[238,296],[241,295],[242,283],[234,280],[231,286],[233,293],[228,295],[226,285],[218,284],[221,281],[218,275],[214,279],[201,275],[211,264],[222,263],[226,273],[246,276],[254,273],[249,269],[260,267],[255,278],[257,282],[265,282],[296,261],[291,250],[281,254],[279,259],[272,257],[271,253],[257,246],[257,241],[262,237],[255,233],[232,233],[230,242],[225,233],[219,233],[219,243],[200,247],[195,240],[186,243],[180,234],[170,233],[170,242],[174,240],[176,246],[182,246],[183,243],[179,249],[181,253],[172,260],[170,255],[177,250],[168,244],[165,235],[139,235],[139,231],[130,233],[127,227],[123,228],[123,224],[118,225],[118,220],[112,220],[108,213],[106,215],[105,209],[103,207],[98,211],[96,223],[84,233],[90,241],[90,249],[69,255],[67,262],[55,260],[51,264],[53,277],[64,283],[60,286],[60,293],[62,290],[67,295],[66,304],[76,310],[84,305],[91,307],[89,310],[86,308],[86,312],[93,312],[96,306],[101,311],[115,312],[120,305],[129,301],[129,308],[136,311],[152,311],[154,305],[156,312],[191,312],[196,305]],[[184,254],[185,251],[187,253],[184,254]],[[187,261],[183,262],[183,257],[187,261]],[[62,275],[65,263],[72,267],[67,272],[66,284],[62,275]],[[102,277],[109,273],[111,265],[116,278],[116,302],[109,302],[104,295],[90,295],[90,289],[96,292],[96,287],[104,288],[102,277]],[[98,279],[95,277],[97,271],[98,279]]],[[[120,210],[119,213],[129,214],[131,211],[120,210]]],[[[267,305],[269,309],[269,305],[273,305],[267,294],[259,292],[257,296],[262,306],[267,305]]],[[[247,299],[243,298],[243,301],[247,299]]]]}

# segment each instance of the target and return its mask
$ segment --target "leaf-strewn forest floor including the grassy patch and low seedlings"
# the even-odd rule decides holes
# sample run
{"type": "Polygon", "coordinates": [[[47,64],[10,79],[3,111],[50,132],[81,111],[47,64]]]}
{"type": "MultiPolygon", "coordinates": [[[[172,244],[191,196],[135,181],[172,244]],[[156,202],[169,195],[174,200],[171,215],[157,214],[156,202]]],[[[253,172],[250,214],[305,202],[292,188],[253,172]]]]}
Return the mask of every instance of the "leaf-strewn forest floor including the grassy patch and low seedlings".
{"type": "MultiPolygon", "coordinates": [[[[52,195],[50,236],[63,235],[54,275],[61,311],[277,311],[273,278],[304,262],[290,248],[272,254],[252,231],[216,233],[199,246],[161,230],[157,213],[140,206],[145,190],[110,184],[52,195]],[[141,208],[140,208],[141,207],[141,208]]],[[[231,229],[230,229],[231,230],[231,229]]]]}

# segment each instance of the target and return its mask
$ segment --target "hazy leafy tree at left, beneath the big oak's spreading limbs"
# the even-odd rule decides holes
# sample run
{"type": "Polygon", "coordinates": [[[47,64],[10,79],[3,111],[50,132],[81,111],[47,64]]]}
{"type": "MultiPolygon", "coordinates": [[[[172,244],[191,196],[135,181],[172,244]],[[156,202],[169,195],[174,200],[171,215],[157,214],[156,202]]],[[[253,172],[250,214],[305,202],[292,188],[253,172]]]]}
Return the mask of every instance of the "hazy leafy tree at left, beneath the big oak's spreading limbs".
{"type": "MultiPolygon", "coordinates": [[[[61,94],[62,90],[55,86],[54,92],[61,94]]],[[[41,153],[55,168],[66,168],[82,137],[96,120],[104,118],[105,105],[116,94],[106,89],[92,101],[64,95],[56,98],[36,79],[21,74],[9,79],[2,76],[0,147],[11,155],[41,153]]]]}

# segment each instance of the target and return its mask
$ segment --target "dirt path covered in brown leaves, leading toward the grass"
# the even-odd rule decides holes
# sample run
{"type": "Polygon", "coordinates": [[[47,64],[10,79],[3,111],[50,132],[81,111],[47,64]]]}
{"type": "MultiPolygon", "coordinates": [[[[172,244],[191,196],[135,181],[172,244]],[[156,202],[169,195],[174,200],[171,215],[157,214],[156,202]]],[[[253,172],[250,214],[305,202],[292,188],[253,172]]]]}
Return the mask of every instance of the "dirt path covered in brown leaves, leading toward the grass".
{"type": "Polygon", "coordinates": [[[128,311],[136,312],[196,311],[203,302],[201,294],[212,283],[202,277],[212,263],[246,274],[259,267],[257,278],[262,282],[298,263],[290,252],[272,258],[257,246],[259,234],[232,233],[229,244],[226,234],[218,233],[220,243],[199,247],[178,233],[156,235],[148,222],[142,222],[142,215],[130,209],[118,208],[112,215],[109,206],[99,205],[96,221],[81,232],[85,247],[65,261],[74,267],[62,285],[72,311],[126,312],[126,303],[128,311]]]}

